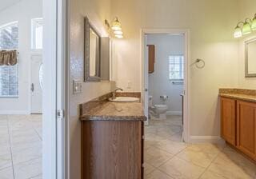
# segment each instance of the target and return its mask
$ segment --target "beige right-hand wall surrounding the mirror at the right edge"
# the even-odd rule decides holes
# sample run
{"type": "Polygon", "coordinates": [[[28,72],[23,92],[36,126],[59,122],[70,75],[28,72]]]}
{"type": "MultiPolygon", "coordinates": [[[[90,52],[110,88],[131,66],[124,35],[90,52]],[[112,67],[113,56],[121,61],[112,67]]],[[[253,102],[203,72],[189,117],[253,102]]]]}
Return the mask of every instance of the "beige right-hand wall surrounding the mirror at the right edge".
{"type": "MultiPolygon", "coordinates": [[[[256,13],[255,7],[255,0],[240,0],[239,21],[245,21],[246,18],[253,18],[256,13]]],[[[245,41],[252,38],[256,38],[256,32],[246,35],[239,40],[238,86],[240,88],[256,89],[256,78],[245,78],[245,41]]]]}

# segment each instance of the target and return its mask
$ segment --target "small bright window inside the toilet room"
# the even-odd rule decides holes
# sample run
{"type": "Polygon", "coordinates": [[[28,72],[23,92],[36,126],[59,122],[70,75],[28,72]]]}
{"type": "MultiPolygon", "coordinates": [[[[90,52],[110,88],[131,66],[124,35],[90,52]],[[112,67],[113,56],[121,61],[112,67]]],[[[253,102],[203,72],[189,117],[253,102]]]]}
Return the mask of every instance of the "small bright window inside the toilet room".
{"type": "Polygon", "coordinates": [[[184,78],[184,56],[171,55],[169,57],[169,79],[183,80],[184,78]]]}

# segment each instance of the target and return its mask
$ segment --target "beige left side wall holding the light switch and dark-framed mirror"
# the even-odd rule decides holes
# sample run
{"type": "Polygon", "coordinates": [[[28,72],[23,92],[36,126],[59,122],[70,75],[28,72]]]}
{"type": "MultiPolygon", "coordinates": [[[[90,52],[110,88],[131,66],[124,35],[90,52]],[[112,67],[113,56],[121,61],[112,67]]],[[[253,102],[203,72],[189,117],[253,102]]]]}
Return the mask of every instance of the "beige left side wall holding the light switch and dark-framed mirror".
{"type": "Polygon", "coordinates": [[[72,80],[83,81],[84,17],[88,16],[102,36],[105,18],[110,18],[110,0],[70,1],[70,178],[80,178],[81,173],[81,123],[78,105],[110,92],[110,82],[83,82],[82,93],[72,93],[72,80]]]}

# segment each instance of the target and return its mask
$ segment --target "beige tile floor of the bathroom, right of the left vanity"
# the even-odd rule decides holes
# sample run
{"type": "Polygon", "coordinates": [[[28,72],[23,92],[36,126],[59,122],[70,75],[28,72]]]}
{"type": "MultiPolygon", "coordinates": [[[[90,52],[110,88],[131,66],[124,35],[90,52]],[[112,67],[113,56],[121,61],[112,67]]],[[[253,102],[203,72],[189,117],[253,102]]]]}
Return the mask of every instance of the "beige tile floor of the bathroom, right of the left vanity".
{"type": "Polygon", "coordinates": [[[182,119],[146,126],[146,179],[256,179],[256,165],[227,145],[182,142],[182,119]]]}

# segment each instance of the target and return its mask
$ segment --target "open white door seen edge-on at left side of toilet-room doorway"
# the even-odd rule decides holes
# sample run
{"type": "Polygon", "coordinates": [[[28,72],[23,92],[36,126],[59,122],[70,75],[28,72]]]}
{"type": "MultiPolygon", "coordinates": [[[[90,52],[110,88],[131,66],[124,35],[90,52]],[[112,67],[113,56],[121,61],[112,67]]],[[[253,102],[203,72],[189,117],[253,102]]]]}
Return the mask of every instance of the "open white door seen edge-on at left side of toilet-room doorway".
{"type": "Polygon", "coordinates": [[[142,89],[142,91],[144,91],[144,112],[145,112],[145,116],[147,118],[146,121],[146,125],[148,125],[149,122],[149,59],[148,59],[148,46],[146,46],[147,44],[147,40],[146,40],[146,35],[144,35],[144,89],[142,89]]]}

